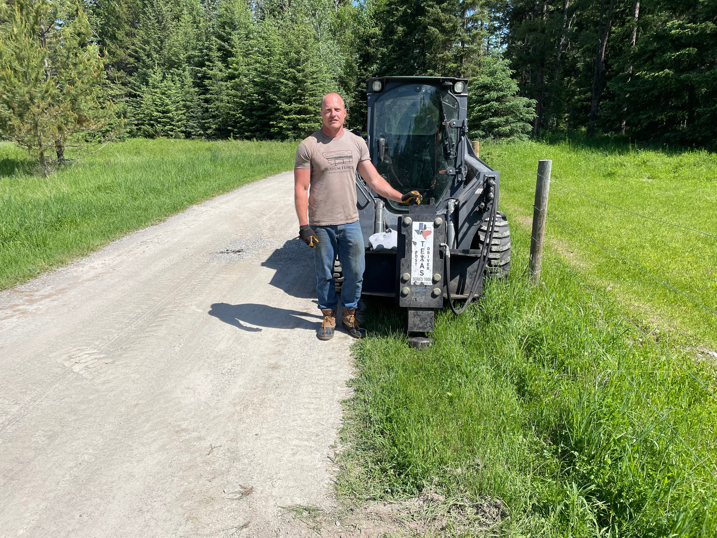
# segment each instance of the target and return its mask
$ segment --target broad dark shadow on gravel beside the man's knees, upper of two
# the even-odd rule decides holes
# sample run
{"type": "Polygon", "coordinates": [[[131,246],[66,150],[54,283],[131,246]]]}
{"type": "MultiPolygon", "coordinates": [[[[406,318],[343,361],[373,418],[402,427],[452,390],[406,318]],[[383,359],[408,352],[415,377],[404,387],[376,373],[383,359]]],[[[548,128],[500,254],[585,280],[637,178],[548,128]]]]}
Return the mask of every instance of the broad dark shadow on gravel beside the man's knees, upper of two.
{"type": "Polygon", "coordinates": [[[316,298],[313,250],[303,241],[290,239],[271,253],[262,267],[274,269],[270,285],[300,299],[316,298]]]}

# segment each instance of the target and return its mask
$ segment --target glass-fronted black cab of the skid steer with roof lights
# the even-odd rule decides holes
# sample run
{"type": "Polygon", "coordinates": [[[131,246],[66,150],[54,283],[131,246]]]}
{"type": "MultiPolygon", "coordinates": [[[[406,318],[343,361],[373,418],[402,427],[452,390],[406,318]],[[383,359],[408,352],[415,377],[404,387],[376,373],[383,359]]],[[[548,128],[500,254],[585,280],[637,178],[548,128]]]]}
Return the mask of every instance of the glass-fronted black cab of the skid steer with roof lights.
{"type": "MultiPolygon", "coordinates": [[[[466,82],[445,77],[367,81],[371,160],[391,187],[417,190],[426,201],[445,197],[455,171],[463,170],[465,151],[455,126],[465,121],[466,82]]],[[[394,211],[407,211],[402,204],[388,203],[394,211]]]]}

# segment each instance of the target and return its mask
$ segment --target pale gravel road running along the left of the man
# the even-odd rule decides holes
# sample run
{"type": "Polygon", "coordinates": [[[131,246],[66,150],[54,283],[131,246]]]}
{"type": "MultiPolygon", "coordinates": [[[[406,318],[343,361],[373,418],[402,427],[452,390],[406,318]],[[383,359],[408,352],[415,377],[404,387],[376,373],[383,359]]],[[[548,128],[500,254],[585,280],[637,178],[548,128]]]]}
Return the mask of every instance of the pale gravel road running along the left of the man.
{"type": "Polygon", "coordinates": [[[0,294],[0,536],[303,534],[351,338],[280,174],[0,294]]]}

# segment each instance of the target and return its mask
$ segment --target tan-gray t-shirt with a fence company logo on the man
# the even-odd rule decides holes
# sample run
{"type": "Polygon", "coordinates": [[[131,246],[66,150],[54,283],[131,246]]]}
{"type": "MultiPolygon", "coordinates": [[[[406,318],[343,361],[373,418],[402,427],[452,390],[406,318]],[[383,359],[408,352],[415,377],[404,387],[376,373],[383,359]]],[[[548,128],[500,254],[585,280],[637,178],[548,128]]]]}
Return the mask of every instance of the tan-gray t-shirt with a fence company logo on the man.
{"type": "Polygon", "coordinates": [[[366,141],[343,129],[336,138],[319,129],[296,150],[294,168],[311,169],[309,224],[333,226],[359,220],[356,209],[356,166],[368,161],[366,141]]]}

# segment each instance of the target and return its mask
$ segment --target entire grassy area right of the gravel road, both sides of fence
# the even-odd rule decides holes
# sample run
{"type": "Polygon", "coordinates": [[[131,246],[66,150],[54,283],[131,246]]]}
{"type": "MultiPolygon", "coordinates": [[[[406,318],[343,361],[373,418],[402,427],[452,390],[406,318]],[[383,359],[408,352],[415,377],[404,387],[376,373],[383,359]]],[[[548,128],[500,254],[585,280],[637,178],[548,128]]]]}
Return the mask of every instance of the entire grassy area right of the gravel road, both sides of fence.
{"type": "Polygon", "coordinates": [[[717,240],[557,184],[717,235],[717,157],[534,142],[481,157],[501,171],[511,275],[437,313],[427,351],[391,303],[367,302],[339,491],[435,490],[449,524],[431,536],[717,536],[717,316],[554,219],[543,284],[527,270],[537,161],[552,159],[554,217],[717,308],[717,240]]]}

